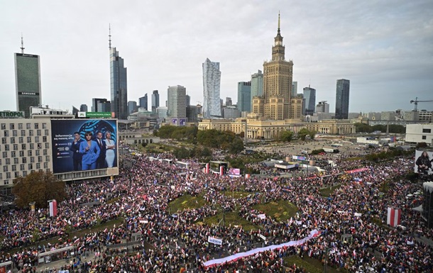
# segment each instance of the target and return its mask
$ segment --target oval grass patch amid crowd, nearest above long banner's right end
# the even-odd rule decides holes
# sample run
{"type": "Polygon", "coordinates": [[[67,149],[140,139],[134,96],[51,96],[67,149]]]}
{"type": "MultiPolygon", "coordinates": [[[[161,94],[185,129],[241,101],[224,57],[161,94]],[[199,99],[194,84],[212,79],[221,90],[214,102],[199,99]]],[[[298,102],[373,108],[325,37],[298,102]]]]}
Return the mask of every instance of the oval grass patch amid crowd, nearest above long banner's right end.
{"type": "Polygon", "coordinates": [[[275,218],[277,221],[287,221],[290,217],[295,216],[297,207],[292,203],[284,200],[270,201],[265,204],[256,204],[253,206],[258,211],[263,211],[266,216],[275,218]]]}

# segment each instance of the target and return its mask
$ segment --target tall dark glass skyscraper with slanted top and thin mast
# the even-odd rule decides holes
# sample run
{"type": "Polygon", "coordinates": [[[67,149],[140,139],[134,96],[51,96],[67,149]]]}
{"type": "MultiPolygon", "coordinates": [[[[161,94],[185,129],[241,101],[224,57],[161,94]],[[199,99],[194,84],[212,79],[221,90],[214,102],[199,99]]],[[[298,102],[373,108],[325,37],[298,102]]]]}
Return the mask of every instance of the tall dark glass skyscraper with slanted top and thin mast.
{"type": "Polygon", "coordinates": [[[116,118],[128,117],[128,84],[124,59],[119,56],[116,48],[111,48],[111,33],[109,35],[110,49],[110,82],[111,82],[111,112],[116,118]]]}

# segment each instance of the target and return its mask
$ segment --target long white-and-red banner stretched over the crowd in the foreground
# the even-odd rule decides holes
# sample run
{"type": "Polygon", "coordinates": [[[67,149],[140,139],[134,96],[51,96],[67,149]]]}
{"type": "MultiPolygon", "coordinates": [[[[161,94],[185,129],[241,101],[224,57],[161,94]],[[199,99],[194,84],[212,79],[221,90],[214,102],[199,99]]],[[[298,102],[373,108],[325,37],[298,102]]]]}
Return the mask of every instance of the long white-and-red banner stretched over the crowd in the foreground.
{"type": "Polygon", "coordinates": [[[239,253],[236,253],[234,255],[230,255],[230,256],[227,256],[227,257],[224,257],[221,259],[209,260],[207,262],[204,262],[203,265],[204,265],[204,267],[213,267],[217,264],[224,264],[224,262],[233,262],[233,261],[236,261],[236,260],[241,259],[243,257],[255,255],[255,254],[257,254],[259,252],[263,252],[263,251],[278,250],[282,247],[292,247],[295,245],[302,245],[305,242],[307,242],[307,240],[314,238],[314,237],[317,237],[319,234],[320,234],[319,230],[312,230],[312,232],[309,233],[309,235],[307,237],[305,237],[301,240],[290,241],[287,243],[282,243],[280,245],[269,245],[267,247],[258,247],[258,248],[255,248],[253,250],[249,250],[247,252],[239,252],[239,253]]]}

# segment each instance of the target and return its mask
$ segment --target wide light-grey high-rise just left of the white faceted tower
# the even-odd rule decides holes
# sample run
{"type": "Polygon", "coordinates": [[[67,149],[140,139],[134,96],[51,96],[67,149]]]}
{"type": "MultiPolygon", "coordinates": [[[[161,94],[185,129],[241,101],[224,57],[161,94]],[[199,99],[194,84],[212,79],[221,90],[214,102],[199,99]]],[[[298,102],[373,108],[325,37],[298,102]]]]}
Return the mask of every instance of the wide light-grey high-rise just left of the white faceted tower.
{"type": "Polygon", "coordinates": [[[187,117],[187,89],[180,85],[168,87],[167,102],[168,116],[172,118],[187,117]]]}

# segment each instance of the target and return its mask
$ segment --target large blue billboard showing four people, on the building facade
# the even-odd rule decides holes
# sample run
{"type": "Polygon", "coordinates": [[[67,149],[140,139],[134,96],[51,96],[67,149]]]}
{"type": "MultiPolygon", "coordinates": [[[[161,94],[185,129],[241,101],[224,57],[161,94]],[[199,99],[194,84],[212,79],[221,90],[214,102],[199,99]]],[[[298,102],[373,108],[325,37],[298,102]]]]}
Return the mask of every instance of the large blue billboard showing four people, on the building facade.
{"type": "Polygon", "coordinates": [[[51,120],[53,173],[118,167],[117,120],[51,120]]]}

